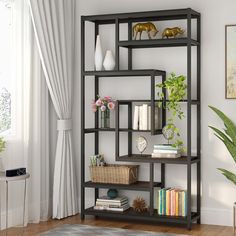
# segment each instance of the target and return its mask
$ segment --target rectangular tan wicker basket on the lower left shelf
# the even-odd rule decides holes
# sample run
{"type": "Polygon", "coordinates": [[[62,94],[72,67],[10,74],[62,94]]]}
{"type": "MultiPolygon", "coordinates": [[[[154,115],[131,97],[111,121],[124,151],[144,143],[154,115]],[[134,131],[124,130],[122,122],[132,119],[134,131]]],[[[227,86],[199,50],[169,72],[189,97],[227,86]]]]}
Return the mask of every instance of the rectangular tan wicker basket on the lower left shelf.
{"type": "Polygon", "coordinates": [[[138,180],[138,165],[90,166],[91,181],[95,183],[132,184],[138,180]]]}

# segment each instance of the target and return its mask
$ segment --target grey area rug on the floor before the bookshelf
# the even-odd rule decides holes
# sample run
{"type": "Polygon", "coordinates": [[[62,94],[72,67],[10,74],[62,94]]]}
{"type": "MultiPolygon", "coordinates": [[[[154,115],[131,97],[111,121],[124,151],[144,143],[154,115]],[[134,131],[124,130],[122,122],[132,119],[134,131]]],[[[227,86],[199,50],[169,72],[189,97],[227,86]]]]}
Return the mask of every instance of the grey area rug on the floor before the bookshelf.
{"type": "Polygon", "coordinates": [[[155,233],[147,231],[127,230],[118,228],[96,227],[91,225],[62,225],[58,228],[39,234],[40,236],[186,236],[183,234],[155,233]]]}

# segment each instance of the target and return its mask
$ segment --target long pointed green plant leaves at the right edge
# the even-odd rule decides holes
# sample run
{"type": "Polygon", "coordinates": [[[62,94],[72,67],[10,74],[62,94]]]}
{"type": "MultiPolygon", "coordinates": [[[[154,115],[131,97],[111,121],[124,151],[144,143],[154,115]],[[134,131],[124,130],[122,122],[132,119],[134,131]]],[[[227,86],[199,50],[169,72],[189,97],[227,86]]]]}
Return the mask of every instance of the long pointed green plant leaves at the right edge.
{"type": "MultiPolygon", "coordinates": [[[[228,149],[229,153],[231,154],[231,157],[233,158],[234,162],[236,163],[236,125],[233,123],[233,121],[227,117],[222,111],[219,109],[209,106],[218,116],[219,118],[224,122],[225,128],[223,131],[213,127],[209,126],[215,133],[215,136],[219,138],[228,149]]],[[[233,182],[236,185],[236,174],[222,169],[218,168],[218,170],[221,171],[221,173],[229,179],[231,182],[233,182]]]]}

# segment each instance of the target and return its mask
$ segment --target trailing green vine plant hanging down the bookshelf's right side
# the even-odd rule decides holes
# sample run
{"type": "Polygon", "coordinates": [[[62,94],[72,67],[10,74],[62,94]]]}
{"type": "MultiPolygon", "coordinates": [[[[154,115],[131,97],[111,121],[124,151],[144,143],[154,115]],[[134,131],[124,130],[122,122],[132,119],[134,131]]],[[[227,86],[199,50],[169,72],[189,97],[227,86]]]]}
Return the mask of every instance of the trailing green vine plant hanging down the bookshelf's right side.
{"type": "Polygon", "coordinates": [[[173,146],[182,147],[183,141],[180,137],[180,130],[174,124],[176,118],[182,120],[184,118],[184,113],[182,111],[180,101],[183,100],[187,94],[186,88],[187,85],[185,83],[186,76],[184,75],[176,75],[175,73],[171,73],[170,76],[163,82],[156,85],[156,87],[162,89],[162,91],[158,91],[157,95],[160,98],[160,102],[158,102],[159,107],[164,107],[168,112],[170,112],[170,117],[167,119],[167,129],[172,130],[175,134],[173,137],[174,144],[173,146]],[[165,96],[163,93],[163,89],[166,89],[168,92],[168,101],[165,102],[165,96]]]}

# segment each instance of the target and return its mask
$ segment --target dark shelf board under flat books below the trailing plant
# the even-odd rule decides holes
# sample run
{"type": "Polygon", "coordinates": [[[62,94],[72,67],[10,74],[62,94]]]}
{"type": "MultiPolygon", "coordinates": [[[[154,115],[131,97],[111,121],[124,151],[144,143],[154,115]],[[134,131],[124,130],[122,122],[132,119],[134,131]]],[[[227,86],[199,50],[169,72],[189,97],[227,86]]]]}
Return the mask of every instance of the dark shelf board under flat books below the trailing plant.
{"type": "MultiPolygon", "coordinates": [[[[132,154],[119,156],[116,161],[127,161],[127,162],[143,162],[143,163],[165,163],[165,164],[188,164],[187,157],[178,158],[152,158],[149,154],[132,154]]],[[[200,159],[197,156],[191,157],[191,164],[199,162],[200,159]]]]}

